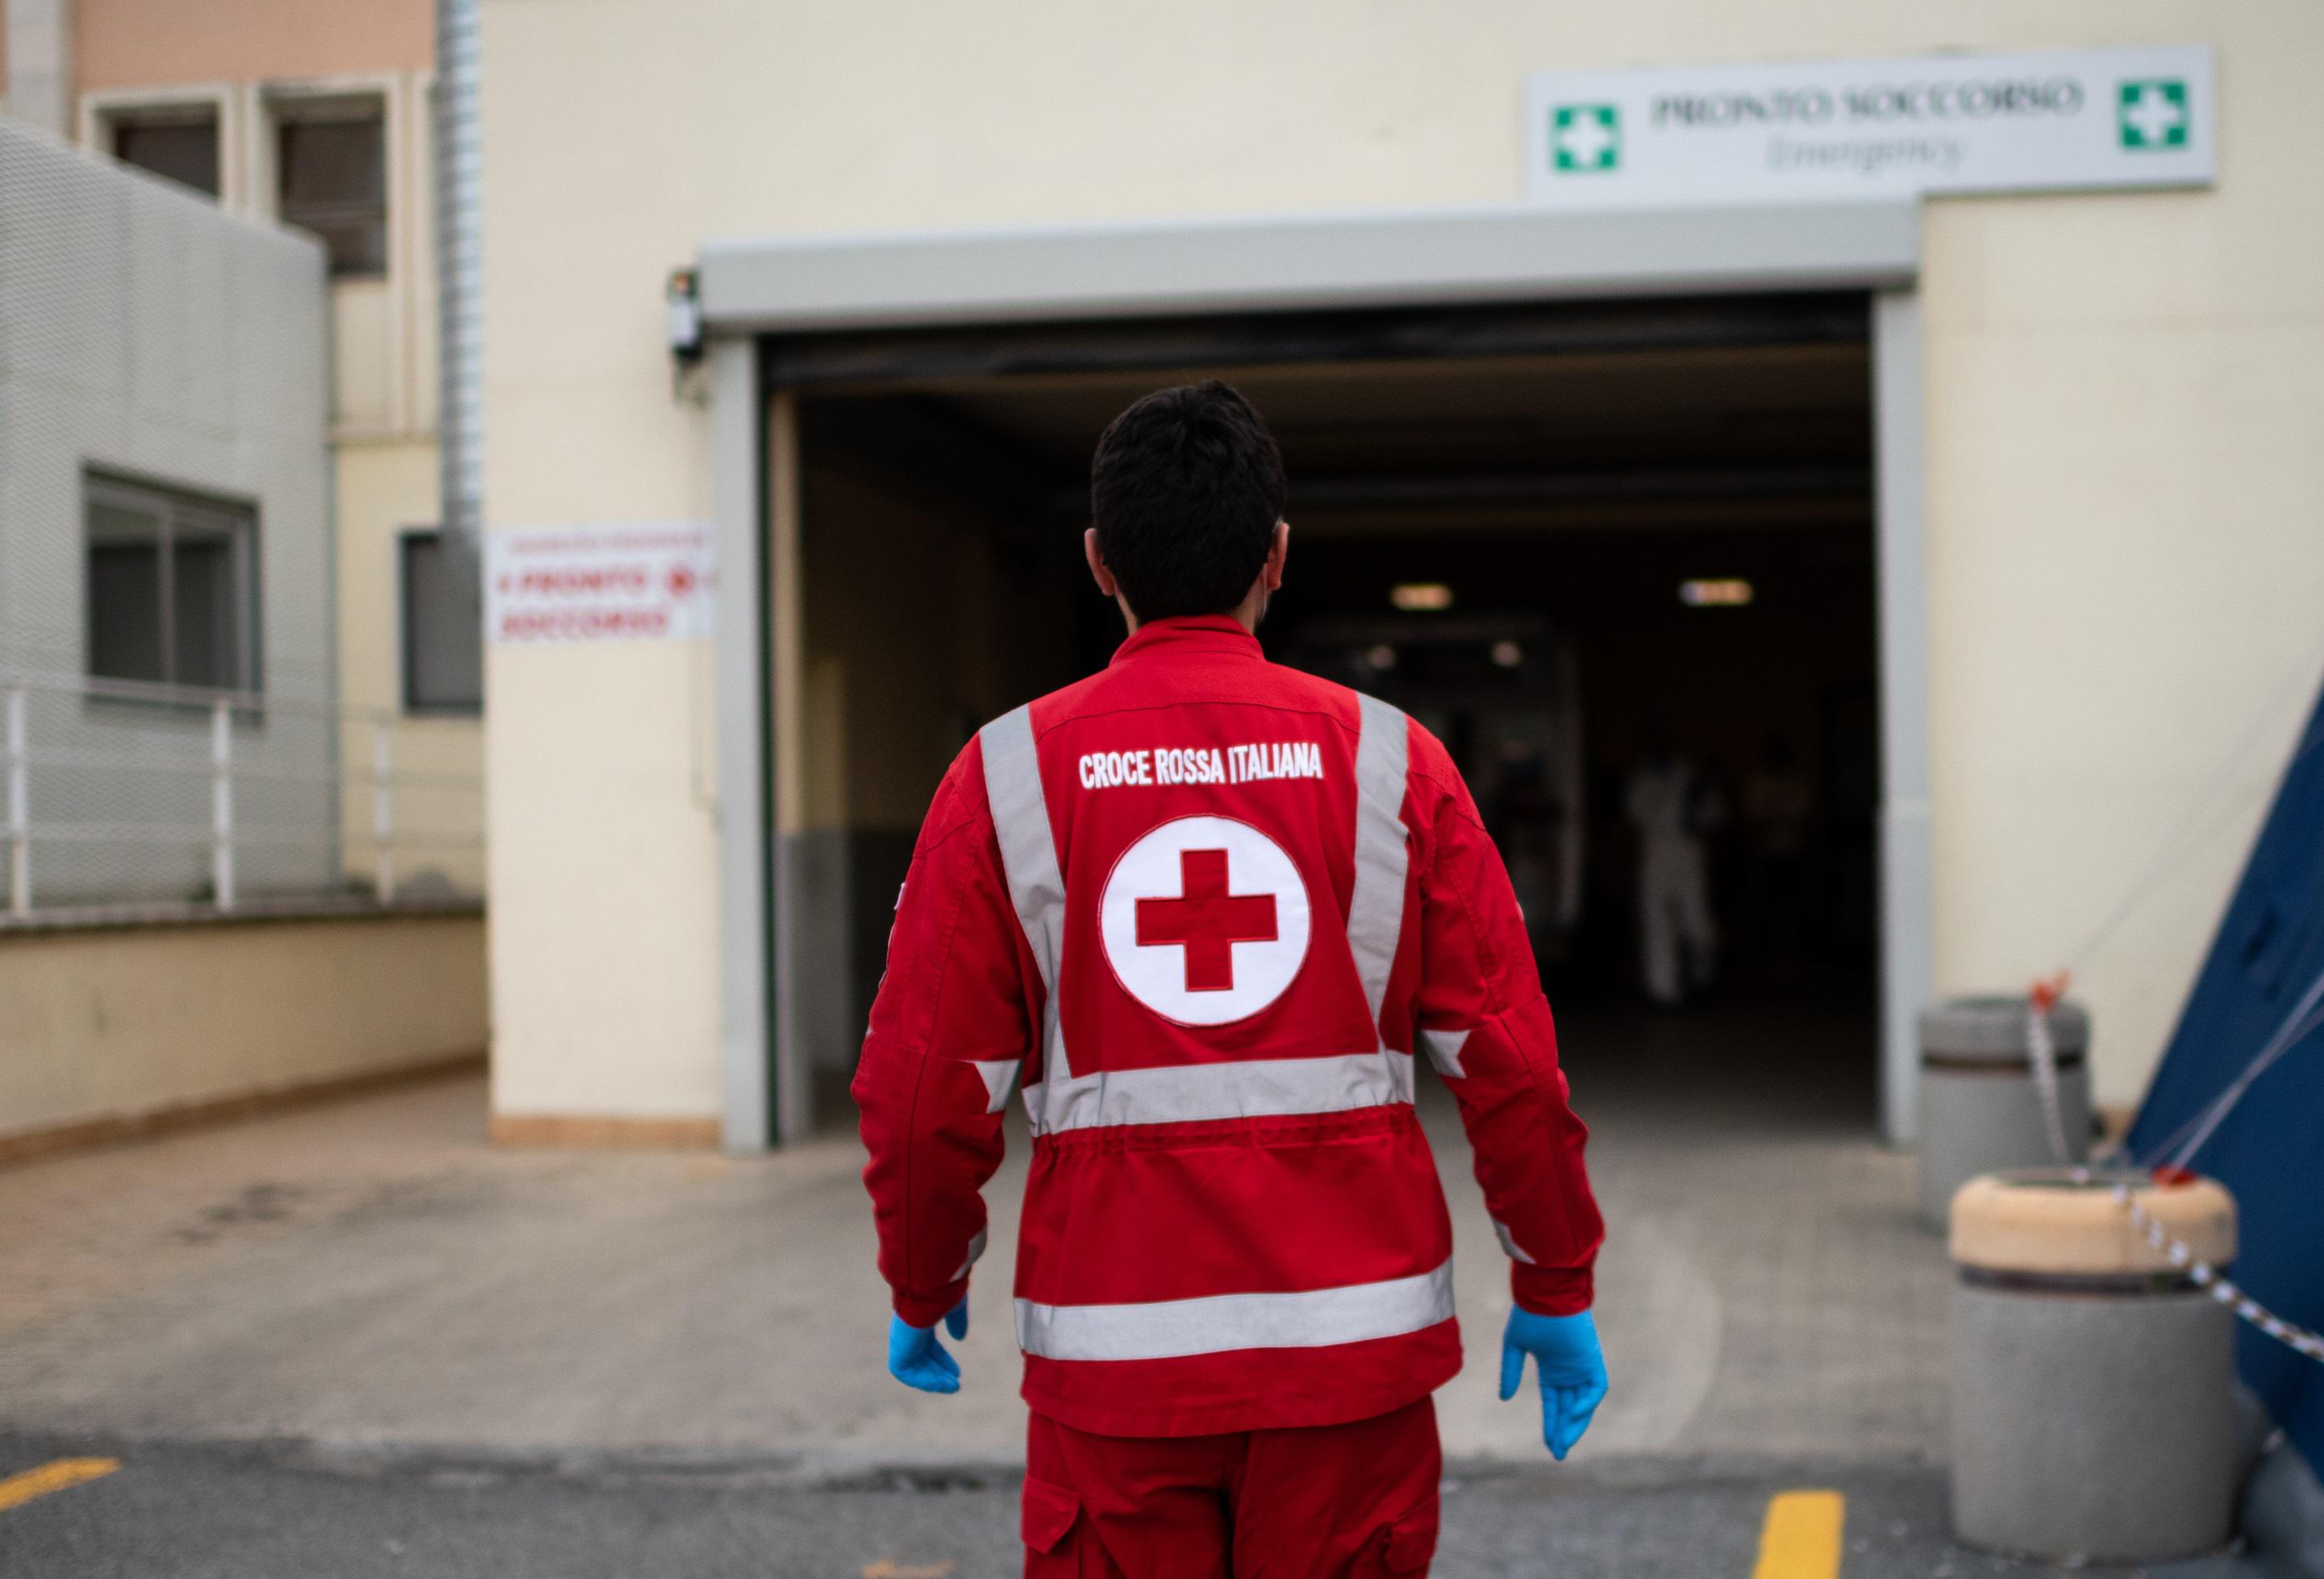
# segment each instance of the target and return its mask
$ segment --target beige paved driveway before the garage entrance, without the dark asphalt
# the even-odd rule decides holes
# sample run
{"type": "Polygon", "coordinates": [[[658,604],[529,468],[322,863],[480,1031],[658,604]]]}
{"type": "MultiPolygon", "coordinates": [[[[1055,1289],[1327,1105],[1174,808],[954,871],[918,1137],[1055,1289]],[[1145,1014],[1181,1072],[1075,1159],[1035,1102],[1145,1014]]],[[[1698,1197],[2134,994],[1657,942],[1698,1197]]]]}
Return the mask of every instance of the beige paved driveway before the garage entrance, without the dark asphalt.
{"type": "MultiPolygon", "coordinates": [[[[1943,1451],[1945,1260],[1913,1226],[1910,1158],[1871,1139],[1859,1035],[1841,1009],[1566,1023],[1611,1226],[1615,1388],[1580,1463],[1943,1451]]],[[[1534,1463],[1532,1405],[1492,1393],[1506,1263],[1450,1102],[1427,1116],[1471,1351],[1446,1444],[1534,1463]]],[[[493,1151],[462,1081],[19,1167],[0,1426],[1016,1463],[1023,1158],[1018,1135],[988,1191],[957,1398],[881,1370],[846,1133],[753,1160],[493,1151]]]]}

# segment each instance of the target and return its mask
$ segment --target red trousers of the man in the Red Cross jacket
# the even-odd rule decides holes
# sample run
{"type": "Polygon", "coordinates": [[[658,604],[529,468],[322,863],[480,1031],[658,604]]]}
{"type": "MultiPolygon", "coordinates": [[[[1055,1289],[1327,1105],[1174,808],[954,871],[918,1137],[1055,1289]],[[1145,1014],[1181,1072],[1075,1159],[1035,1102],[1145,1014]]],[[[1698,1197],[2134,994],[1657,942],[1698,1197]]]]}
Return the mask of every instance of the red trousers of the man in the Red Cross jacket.
{"type": "Polygon", "coordinates": [[[1218,1437],[1097,1437],[1034,1414],[1025,1574],[1425,1574],[1441,1470],[1429,1398],[1348,1426],[1218,1437]]]}

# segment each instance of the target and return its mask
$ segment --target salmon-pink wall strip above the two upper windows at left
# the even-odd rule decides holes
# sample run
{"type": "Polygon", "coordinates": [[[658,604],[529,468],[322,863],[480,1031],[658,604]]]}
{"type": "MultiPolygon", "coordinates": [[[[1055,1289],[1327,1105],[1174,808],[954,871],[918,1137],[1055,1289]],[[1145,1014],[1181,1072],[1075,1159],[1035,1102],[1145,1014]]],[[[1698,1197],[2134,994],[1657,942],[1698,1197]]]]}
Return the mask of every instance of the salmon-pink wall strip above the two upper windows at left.
{"type": "Polygon", "coordinates": [[[81,88],[418,70],[430,0],[74,0],[81,88]]]}

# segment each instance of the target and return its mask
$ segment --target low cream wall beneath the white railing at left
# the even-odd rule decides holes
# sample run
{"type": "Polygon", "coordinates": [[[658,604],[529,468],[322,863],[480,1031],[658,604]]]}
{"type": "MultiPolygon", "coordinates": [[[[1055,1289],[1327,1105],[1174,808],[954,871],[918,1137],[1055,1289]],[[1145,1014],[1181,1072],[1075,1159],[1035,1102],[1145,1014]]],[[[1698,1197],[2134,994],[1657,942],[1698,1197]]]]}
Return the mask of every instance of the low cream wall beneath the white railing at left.
{"type": "Polygon", "coordinates": [[[483,1046],[474,916],[0,937],[0,1142],[483,1046]]]}

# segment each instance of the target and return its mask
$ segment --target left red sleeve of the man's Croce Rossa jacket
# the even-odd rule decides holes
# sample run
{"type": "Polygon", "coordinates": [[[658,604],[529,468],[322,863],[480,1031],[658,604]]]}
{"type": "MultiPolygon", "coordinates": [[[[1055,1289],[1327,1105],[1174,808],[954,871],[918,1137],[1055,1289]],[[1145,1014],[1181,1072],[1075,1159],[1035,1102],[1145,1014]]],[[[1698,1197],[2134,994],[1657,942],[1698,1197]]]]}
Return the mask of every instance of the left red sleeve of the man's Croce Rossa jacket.
{"type": "Polygon", "coordinates": [[[985,1249],[978,1191],[1002,1163],[1002,1109],[1032,1044],[1027,977],[1039,981],[969,744],[920,826],[851,1086],[878,1270],[916,1328],[960,1302],[985,1249]]]}

